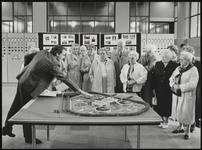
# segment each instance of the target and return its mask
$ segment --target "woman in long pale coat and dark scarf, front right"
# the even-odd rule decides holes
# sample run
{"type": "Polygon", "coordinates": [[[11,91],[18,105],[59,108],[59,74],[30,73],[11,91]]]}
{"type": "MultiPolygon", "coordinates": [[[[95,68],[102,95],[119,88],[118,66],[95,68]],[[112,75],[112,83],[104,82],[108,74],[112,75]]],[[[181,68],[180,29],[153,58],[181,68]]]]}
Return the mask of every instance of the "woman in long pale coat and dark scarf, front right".
{"type": "Polygon", "coordinates": [[[182,125],[186,125],[184,139],[190,138],[190,126],[195,121],[196,86],[199,80],[197,68],[192,63],[193,55],[190,52],[180,53],[180,66],[170,77],[170,87],[173,91],[173,99],[176,120],[179,126],[173,133],[184,133],[182,125]]]}

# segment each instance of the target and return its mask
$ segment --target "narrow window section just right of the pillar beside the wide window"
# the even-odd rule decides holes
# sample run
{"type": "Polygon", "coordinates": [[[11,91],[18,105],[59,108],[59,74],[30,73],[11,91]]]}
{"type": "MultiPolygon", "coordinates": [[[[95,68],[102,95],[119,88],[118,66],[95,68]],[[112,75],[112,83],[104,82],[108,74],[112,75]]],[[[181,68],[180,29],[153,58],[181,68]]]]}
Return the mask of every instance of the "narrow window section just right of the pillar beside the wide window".
{"type": "Polygon", "coordinates": [[[130,32],[148,33],[149,2],[130,2],[130,32]]]}

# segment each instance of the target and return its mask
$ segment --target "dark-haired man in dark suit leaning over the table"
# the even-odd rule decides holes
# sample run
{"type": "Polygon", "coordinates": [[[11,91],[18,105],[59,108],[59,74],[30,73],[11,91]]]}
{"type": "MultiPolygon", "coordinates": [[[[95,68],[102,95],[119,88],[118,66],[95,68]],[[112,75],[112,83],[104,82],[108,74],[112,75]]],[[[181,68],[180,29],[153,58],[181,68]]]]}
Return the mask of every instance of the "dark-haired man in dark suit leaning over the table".
{"type": "MultiPolygon", "coordinates": [[[[63,50],[63,46],[57,45],[50,52],[42,50],[27,56],[29,58],[28,65],[26,63],[23,70],[16,77],[18,79],[17,92],[8,112],[5,126],[3,127],[3,135],[15,137],[15,134],[12,133],[13,124],[9,123],[8,120],[27,102],[35,99],[47,89],[55,77],[64,82],[72,90],[78,91],[87,97],[93,96],[82,91],[72,80],[65,77],[60,70],[60,60],[65,55],[63,50]]],[[[31,125],[23,124],[23,134],[25,142],[32,143],[31,125]]],[[[36,144],[39,143],[42,142],[36,139],[36,144]]]]}

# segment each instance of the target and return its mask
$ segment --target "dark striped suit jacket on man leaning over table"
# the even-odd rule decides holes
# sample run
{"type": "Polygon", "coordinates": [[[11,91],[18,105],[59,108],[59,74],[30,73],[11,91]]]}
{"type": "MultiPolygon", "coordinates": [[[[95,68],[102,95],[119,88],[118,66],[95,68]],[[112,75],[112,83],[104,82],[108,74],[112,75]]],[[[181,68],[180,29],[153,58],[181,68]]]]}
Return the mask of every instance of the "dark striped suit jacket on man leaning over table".
{"type": "MultiPolygon", "coordinates": [[[[17,75],[19,85],[26,90],[32,98],[36,98],[49,87],[54,77],[64,82],[72,90],[77,91],[79,87],[60,70],[60,63],[46,50],[30,54],[33,57],[29,65],[17,75]]],[[[29,57],[29,56],[28,56],[29,57]]]]}

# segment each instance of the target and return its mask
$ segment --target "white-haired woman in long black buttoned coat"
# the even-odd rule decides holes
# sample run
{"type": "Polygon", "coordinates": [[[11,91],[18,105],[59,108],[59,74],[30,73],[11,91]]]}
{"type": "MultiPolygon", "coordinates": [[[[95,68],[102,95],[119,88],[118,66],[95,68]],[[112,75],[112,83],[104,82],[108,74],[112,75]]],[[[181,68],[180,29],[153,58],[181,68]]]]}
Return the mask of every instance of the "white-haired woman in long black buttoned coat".
{"type": "Polygon", "coordinates": [[[169,78],[178,64],[172,61],[173,53],[169,49],[162,50],[161,58],[161,61],[156,62],[152,83],[157,98],[157,105],[154,106],[154,110],[163,120],[159,127],[165,129],[168,127],[168,118],[171,115],[172,108],[172,91],[169,85],[169,78]]]}

